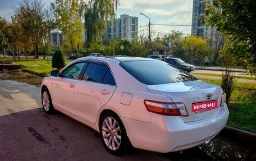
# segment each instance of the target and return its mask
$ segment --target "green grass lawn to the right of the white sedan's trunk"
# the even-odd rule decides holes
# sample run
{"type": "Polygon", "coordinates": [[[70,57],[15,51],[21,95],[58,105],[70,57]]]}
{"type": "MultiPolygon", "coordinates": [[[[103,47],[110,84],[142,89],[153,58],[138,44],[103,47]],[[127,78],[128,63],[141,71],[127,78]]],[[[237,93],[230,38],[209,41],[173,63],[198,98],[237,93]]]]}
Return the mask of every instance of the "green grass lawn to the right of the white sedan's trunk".
{"type": "MultiPolygon", "coordinates": [[[[200,76],[197,77],[200,79],[200,76]]],[[[247,77],[243,77],[243,79],[246,78],[247,77]]],[[[252,77],[248,78],[252,79],[252,77]]],[[[221,75],[219,80],[205,78],[201,80],[218,85],[222,84],[221,75]]],[[[230,116],[227,121],[228,126],[256,133],[256,81],[254,84],[235,82],[230,103],[228,103],[228,109],[230,111],[230,116]]]]}

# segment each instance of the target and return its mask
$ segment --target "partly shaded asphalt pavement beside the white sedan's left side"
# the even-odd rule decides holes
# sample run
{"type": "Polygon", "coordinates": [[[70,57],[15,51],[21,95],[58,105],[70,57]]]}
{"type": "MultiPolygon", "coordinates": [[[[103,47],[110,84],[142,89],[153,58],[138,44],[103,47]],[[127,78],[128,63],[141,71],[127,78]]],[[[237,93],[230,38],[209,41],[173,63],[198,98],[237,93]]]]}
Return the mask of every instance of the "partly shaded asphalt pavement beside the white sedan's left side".
{"type": "Polygon", "coordinates": [[[0,80],[0,160],[169,160],[135,149],[109,154],[98,132],[65,114],[45,114],[40,88],[0,80]]]}

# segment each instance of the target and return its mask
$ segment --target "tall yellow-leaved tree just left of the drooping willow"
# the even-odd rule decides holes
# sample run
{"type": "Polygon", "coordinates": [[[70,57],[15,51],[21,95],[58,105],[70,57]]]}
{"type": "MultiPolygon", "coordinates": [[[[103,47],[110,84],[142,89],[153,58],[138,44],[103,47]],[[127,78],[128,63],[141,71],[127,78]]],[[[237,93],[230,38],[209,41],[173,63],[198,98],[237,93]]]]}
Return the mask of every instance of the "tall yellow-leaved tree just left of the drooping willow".
{"type": "Polygon", "coordinates": [[[63,39],[69,43],[65,47],[70,45],[72,51],[69,52],[74,50],[78,52],[77,44],[82,42],[83,35],[83,0],[55,0],[51,3],[51,9],[54,12],[57,27],[63,33],[63,39]]]}

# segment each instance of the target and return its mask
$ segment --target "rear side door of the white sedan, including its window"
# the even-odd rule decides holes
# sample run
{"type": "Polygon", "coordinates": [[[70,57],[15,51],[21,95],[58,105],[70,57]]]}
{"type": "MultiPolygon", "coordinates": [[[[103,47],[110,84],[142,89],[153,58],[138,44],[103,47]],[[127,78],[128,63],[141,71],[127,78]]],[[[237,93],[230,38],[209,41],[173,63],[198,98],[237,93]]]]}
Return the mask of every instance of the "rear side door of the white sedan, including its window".
{"type": "Polygon", "coordinates": [[[106,63],[88,62],[82,79],[76,84],[74,104],[77,117],[95,124],[100,108],[111,99],[116,83],[106,63]]]}

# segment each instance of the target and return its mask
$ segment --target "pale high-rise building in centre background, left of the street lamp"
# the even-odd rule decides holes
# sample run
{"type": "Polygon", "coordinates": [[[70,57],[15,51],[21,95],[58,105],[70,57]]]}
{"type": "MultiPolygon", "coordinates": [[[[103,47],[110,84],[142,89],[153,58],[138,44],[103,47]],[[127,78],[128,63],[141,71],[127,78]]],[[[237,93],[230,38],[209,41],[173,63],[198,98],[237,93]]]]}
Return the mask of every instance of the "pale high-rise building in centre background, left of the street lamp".
{"type": "Polygon", "coordinates": [[[120,18],[108,22],[104,39],[135,40],[138,38],[138,26],[138,17],[121,15],[120,18]]]}

